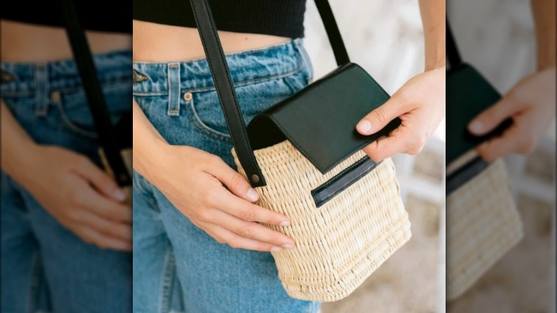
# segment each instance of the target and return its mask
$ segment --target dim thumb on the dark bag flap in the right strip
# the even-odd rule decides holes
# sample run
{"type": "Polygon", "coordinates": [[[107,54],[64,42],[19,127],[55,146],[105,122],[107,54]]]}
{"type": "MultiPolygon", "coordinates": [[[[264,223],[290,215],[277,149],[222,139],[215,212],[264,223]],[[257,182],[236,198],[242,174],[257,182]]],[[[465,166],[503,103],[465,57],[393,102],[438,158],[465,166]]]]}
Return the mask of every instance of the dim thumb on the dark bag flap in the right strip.
{"type": "Polygon", "coordinates": [[[515,113],[518,104],[510,98],[503,98],[493,106],[476,116],[470,124],[468,131],[477,136],[488,134],[495,129],[501,122],[515,113]]]}

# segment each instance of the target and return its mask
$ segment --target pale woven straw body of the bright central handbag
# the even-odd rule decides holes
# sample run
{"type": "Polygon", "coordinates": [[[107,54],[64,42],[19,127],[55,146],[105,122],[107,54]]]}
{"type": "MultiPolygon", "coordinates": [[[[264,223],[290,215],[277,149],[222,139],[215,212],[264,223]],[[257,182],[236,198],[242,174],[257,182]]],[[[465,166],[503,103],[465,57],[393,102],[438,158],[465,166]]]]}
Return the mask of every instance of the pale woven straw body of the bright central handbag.
{"type": "MultiPolygon", "coordinates": [[[[245,175],[234,149],[232,154],[245,175]]],[[[266,225],[296,242],[294,249],[273,252],[278,277],[291,297],[343,299],[410,239],[391,159],[316,208],[311,190],[363,158],[362,151],[324,175],[290,141],[255,155],[267,182],[257,189],[258,204],[291,219],[290,227],[266,225]]]]}

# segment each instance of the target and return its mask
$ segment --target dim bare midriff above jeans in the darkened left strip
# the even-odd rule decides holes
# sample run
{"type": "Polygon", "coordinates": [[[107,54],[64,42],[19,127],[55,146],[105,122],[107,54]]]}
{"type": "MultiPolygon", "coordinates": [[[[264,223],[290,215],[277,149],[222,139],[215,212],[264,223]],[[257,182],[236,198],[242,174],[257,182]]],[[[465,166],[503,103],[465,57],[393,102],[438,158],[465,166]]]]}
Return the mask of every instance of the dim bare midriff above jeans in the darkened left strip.
{"type": "MultiPolygon", "coordinates": [[[[1,61],[56,61],[72,57],[71,46],[62,27],[1,21],[1,61]]],[[[86,31],[94,54],[131,49],[131,34],[86,31]]]]}

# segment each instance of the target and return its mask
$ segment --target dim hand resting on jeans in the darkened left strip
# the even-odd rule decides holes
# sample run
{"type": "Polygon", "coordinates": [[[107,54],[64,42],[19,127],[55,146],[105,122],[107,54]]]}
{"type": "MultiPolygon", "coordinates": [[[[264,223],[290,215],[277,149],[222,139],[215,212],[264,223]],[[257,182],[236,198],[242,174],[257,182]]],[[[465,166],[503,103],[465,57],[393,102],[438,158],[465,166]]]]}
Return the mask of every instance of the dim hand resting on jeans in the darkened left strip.
{"type": "Polygon", "coordinates": [[[131,251],[131,207],[108,174],[58,146],[34,146],[29,153],[36,158],[16,180],[46,211],[84,242],[131,251]]]}

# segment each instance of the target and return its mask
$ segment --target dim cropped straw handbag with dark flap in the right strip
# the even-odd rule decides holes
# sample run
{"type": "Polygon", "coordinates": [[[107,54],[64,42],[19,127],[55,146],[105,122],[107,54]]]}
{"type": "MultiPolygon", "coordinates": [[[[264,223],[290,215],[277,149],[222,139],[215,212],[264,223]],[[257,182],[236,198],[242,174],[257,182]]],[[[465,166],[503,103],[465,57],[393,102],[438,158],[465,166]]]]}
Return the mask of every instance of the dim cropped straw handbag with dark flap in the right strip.
{"type": "Polygon", "coordinates": [[[501,134],[511,120],[490,134],[473,137],[466,126],[501,98],[468,64],[463,64],[447,24],[447,264],[446,292],[452,300],[466,292],[523,236],[503,159],[487,164],[473,149],[501,134]]]}

